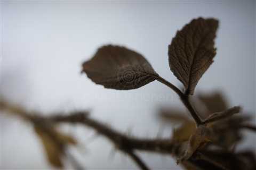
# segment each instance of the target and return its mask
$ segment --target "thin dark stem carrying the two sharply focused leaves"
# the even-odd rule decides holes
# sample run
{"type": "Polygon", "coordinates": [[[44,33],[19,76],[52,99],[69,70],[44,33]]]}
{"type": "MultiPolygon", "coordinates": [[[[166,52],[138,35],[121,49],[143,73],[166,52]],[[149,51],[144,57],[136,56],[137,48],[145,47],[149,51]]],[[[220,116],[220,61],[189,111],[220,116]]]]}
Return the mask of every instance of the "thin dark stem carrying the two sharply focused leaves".
{"type": "Polygon", "coordinates": [[[186,108],[190,112],[190,115],[194,118],[197,126],[203,123],[201,118],[196,113],[195,109],[191,106],[188,99],[188,95],[183,94],[183,92],[181,92],[180,89],[178,89],[176,86],[174,86],[172,83],[170,83],[169,81],[165,80],[162,77],[158,77],[156,80],[170,87],[173,91],[175,91],[179,95],[182,103],[186,106],[186,108]]]}

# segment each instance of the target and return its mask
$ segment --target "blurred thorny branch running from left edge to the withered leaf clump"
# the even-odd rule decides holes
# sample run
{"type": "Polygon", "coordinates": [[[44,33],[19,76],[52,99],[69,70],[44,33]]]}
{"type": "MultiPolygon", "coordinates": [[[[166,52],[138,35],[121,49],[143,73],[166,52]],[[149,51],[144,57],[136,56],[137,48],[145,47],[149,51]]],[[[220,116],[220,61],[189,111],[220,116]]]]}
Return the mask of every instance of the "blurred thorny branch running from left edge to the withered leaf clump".
{"type": "MultiPolygon", "coordinates": [[[[153,139],[137,139],[128,137],[120,132],[111,129],[107,125],[104,125],[98,121],[93,120],[89,117],[87,112],[75,112],[70,115],[54,115],[54,116],[41,116],[39,114],[34,114],[35,112],[28,112],[22,107],[10,105],[5,101],[0,102],[0,109],[6,111],[7,113],[12,113],[18,115],[21,118],[33,123],[35,126],[47,133],[54,142],[57,142],[57,146],[63,146],[58,138],[52,133],[49,127],[57,123],[77,123],[90,127],[97,131],[99,134],[105,136],[111,142],[114,143],[117,149],[129,155],[132,160],[143,170],[149,169],[145,163],[134,153],[134,150],[144,150],[151,152],[160,152],[165,154],[172,154],[175,146],[170,139],[164,140],[153,140],[153,139]]],[[[74,167],[81,167],[76,165],[74,167]]],[[[79,168],[81,169],[81,168],[79,168]]]]}

